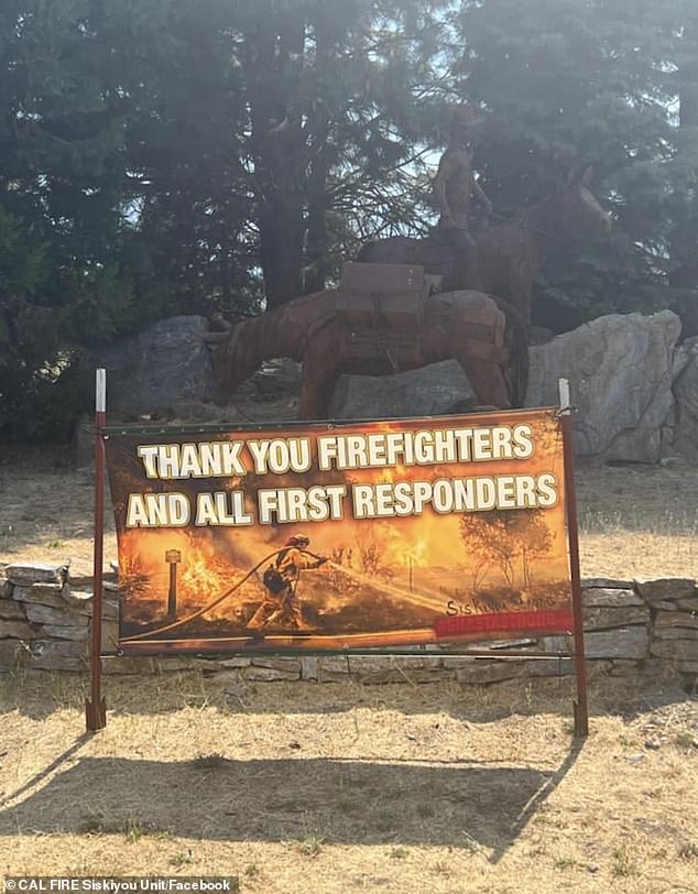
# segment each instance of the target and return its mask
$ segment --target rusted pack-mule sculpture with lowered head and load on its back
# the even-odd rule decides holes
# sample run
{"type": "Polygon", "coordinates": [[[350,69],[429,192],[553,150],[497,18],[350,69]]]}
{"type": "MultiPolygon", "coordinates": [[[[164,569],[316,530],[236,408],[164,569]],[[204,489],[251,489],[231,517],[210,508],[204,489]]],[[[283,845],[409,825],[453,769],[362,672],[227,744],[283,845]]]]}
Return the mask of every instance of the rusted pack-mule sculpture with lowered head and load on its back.
{"type": "Polygon", "coordinates": [[[342,373],[381,375],[456,359],[480,404],[520,405],[527,352],[515,313],[482,293],[428,295],[418,266],[348,264],[336,291],[295,298],[206,337],[215,346],[211,396],[230,400],[264,360],[302,361],[298,414],[327,418],[342,373]]]}

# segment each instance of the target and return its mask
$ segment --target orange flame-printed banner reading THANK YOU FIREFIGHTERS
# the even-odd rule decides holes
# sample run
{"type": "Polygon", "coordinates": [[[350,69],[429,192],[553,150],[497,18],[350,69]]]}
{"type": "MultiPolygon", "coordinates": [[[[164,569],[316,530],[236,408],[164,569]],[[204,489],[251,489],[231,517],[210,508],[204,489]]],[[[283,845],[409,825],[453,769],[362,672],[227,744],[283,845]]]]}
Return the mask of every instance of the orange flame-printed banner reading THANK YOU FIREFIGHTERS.
{"type": "Polygon", "coordinates": [[[572,629],[555,410],[108,429],[124,653],[572,629]]]}

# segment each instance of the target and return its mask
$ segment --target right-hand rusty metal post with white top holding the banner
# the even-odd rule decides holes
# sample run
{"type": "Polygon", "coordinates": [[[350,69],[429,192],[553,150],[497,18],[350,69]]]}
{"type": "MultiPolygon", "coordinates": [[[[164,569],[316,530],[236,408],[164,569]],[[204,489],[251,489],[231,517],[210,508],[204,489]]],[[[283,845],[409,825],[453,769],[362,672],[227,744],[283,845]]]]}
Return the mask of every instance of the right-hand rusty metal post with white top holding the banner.
{"type": "Polygon", "coordinates": [[[569,571],[572,586],[572,618],[575,621],[575,735],[589,735],[589,706],[587,700],[587,659],[585,655],[584,612],[581,607],[581,577],[579,574],[579,536],[577,530],[577,494],[575,493],[575,459],[572,453],[571,405],[569,380],[559,379],[560,422],[565,462],[565,494],[567,506],[567,537],[569,543],[569,571]]]}

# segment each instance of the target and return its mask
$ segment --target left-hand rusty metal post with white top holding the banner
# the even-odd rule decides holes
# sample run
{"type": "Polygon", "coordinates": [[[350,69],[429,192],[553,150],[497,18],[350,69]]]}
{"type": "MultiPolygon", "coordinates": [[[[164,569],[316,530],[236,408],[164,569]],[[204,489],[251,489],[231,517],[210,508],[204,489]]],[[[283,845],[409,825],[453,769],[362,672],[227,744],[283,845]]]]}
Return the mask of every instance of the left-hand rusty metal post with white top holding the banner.
{"type": "Polygon", "coordinates": [[[107,370],[98,369],[95,391],[95,560],[90,672],[91,699],[85,701],[88,732],[107,726],[107,702],[101,694],[102,563],[105,541],[105,426],[107,424],[107,370]]]}

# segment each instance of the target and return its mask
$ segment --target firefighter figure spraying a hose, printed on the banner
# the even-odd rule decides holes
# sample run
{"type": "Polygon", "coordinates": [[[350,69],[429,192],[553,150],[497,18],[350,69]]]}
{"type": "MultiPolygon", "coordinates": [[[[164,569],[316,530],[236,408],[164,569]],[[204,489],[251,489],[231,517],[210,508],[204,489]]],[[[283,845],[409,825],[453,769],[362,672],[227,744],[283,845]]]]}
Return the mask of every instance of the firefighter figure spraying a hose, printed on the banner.
{"type": "Polygon", "coordinates": [[[297,588],[301,571],[319,568],[327,562],[325,556],[307,552],[310,544],[305,534],[288,537],[274,562],[263,575],[264,601],[250,619],[248,628],[283,628],[284,630],[306,629],[301,612],[297,588]]]}

